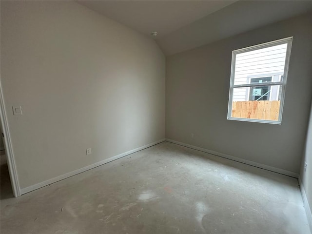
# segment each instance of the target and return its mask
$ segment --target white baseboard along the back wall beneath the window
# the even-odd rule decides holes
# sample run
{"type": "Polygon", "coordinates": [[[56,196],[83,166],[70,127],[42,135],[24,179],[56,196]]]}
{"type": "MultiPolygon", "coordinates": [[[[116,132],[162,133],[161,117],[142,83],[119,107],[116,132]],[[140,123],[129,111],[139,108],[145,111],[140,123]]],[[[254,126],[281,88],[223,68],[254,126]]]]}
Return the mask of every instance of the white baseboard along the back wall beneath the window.
{"type": "Polygon", "coordinates": [[[264,164],[261,164],[261,163],[258,163],[258,162],[253,162],[253,161],[242,159],[242,158],[239,158],[239,157],[226,155],[226,154],[215,152],[215,151],[212,151],[212,150],[207,150],[207,149],[204,149],[204,148],[201,148],[201,147],[197,147],[197,146],[194,146],[194,145],[189,145],[189,144],[186,144],[186,143],[183,143],[183,142],[179,142],[179,141],[176,141],[176,140],[172,140],[172,139],[168,139],[168,138],[166,138],[166,141],[171,142],[171,143],[175,143],[177,145],[182,145],[182,146],[185,146],[185,147],[188,147],[188,148],[192,148],[194,150],[199,150],[199,151],[211,154],[211,155],[215,155],[215,156],[220,156],[220,157],[224,157],[224,158],[227,158],[227,159],[231,159],[231,160],[234,160],[236,162],[242,162],[242,163],[254,166],[254,167],[262,168],[262,169],[265,169],[265,170],[268,170],[268,171],[272,171],[272,172],[276,172],[276,173],[279,173],[279,174],[283,174],[283,175],[286,175],[286,176],[292,176],[294,178],[298,178],[299,177],[299,174],[297,174],[297,173],[286,171],[286,170],[283,170],[283,169],[280,169],[280,168],[276,168],[276,167],[271,167],[271,166],[264,165],[264,164]]]}

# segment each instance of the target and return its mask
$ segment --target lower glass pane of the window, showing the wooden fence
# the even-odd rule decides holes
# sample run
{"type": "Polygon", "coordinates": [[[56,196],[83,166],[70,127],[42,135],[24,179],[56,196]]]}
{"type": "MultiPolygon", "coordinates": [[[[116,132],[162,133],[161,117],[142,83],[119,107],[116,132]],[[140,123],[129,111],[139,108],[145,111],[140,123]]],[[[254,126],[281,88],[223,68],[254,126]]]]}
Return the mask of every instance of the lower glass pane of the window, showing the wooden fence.
{"type": "Polygon", "coordinates": [[[277,121],[281,94],[282,85],[234,88],[231,117],[277,121]]]}

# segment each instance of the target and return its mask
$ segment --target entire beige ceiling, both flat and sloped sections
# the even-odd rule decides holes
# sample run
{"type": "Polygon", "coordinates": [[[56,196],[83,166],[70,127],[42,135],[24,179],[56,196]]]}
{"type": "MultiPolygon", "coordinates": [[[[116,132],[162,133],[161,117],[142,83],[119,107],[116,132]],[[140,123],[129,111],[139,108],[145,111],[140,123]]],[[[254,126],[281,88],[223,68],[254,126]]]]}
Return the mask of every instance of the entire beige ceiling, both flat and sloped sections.
{"type": "Polygon", "coordinates": [[[276,21],[312,12],[311,0],[78,0],[154,38],[173,55],[276,21]]]}

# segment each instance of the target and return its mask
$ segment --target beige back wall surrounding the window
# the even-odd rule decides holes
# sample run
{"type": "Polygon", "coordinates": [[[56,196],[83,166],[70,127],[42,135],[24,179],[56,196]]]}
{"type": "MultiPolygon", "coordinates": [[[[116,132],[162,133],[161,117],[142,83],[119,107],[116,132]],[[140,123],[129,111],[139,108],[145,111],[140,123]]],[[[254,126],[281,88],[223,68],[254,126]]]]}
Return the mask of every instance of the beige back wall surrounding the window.
{"type": "Polygon", "coordinates": [[[312,96],[311,21],[293,18],[167,57],[166,137],[299,173],[312,96]],[[232,51],[291,36],[282,124],[227,120],[232,51]]]}

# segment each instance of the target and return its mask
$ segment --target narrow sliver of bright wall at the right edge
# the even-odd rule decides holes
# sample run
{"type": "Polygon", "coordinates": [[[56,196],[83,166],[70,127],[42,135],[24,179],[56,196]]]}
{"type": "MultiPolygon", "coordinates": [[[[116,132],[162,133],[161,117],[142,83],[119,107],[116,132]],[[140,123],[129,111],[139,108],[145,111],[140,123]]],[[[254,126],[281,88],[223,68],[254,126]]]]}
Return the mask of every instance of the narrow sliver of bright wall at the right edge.
{"type": "MultiPolygon", "coordinates": [[[[310,209],[312,209],[312,106],[311,106],[310,120],[309,120],[309,125],[308,125],[306,147],[305,147],[303,158],[302,158],[300,179],[302,182],[301,186],[304,187],[304,190],[306,192],[310,209]],[[304,169],[305,163],[307,163],[306,170],[304,169]]],[[[312,210],[310,210],[310,214],[311,213],[312,213],[312,210]]],[[[310,222],[311,222],[310,224],[312,224],[311,218],[312,217],[310,216],[310,222]]]]}

